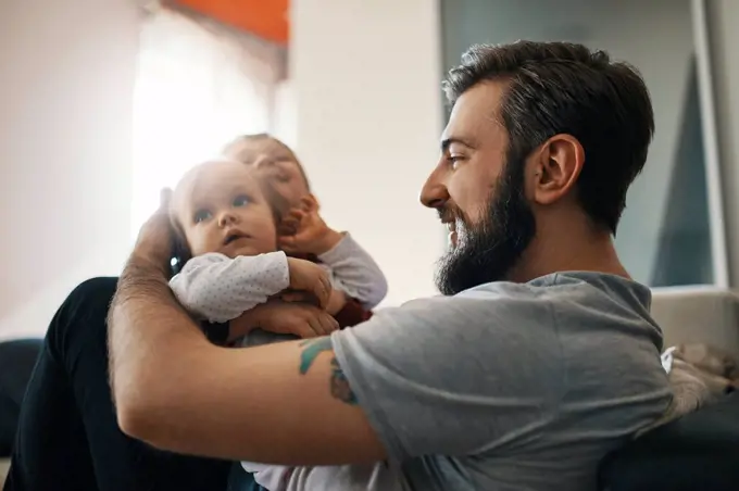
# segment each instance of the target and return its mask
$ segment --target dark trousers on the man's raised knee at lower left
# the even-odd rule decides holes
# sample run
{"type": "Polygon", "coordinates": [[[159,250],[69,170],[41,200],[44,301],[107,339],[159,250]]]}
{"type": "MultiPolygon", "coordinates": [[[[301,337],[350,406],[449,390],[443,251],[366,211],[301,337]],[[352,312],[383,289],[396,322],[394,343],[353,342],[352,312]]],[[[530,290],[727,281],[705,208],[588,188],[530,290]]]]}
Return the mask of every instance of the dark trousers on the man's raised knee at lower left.
{"type": "Polygon", "coordinates": [[[4,490],[227,490],[229,473],[238,470],[231,463],[158,451],[118,429],[105,327],[115,285],[116,278],[82,284],[51,322],[23,401],[4,490]]]}

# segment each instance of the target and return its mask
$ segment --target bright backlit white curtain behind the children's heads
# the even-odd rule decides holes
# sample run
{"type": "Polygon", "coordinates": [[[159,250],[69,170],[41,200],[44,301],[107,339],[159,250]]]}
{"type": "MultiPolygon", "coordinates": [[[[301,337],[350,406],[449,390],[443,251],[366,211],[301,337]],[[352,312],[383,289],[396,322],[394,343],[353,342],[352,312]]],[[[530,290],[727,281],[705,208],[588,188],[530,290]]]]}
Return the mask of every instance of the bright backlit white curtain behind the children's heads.
{"type": "Polygon", "coordinates": [[[134,234],[162,187],[236,135],[270,131],[285,50],[204,17],[143,10],[134,93],[134,234]]]}

